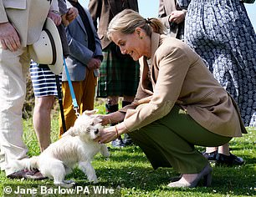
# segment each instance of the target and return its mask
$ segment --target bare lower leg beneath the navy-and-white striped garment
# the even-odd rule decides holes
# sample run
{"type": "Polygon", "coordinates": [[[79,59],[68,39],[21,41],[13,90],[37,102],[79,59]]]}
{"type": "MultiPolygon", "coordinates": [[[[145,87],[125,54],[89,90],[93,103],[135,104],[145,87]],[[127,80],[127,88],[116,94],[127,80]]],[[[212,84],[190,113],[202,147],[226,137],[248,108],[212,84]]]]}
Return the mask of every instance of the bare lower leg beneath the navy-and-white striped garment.
{"type": "Polygon", "coordinates": [[[53,109],[54,102],[54,95],[35,98],[33,128],[38,137],[41,152],[51,143],[51,110],[53,109]]]}

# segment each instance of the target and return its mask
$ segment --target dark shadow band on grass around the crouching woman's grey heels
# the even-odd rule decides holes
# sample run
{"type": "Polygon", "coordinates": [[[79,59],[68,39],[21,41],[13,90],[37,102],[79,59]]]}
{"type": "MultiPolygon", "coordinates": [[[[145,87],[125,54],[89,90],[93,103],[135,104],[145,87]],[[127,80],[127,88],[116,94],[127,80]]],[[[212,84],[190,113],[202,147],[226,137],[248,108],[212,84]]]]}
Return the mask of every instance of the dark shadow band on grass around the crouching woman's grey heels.
{"type": "MultiPolygon", "coordinates": [[[[203,187],[202,181],[194,189],[168,188],[166,185],[177,177],[173,169],[156,169],[125,167],[120,169],[109,169],[104,166],[96,169],[100,182],[96,185],[106,188],[136,189],[144,192],[161,191],[190,191],[190,193],[204,194],[225,194],[225,195],[249,195],[256,194],[253,167],[243,166],[239,168],[213,167],[212,186],[203,187]]],[[[78,185],[88,185],[87,179],[81,179],[81,172],[77,169],[76,173],[71,174],[76,179],[78,185]]]]}

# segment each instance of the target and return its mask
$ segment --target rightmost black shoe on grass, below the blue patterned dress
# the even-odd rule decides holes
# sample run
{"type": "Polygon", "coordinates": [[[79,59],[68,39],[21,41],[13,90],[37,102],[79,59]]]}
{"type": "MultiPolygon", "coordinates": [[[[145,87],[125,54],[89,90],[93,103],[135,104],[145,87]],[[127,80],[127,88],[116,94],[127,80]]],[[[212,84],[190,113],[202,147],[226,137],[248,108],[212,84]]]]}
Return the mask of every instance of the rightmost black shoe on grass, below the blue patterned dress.
{"type": "Polygon", "coordinates": [[[216,159],[218,164],[224,164],[228,166],[241,165],[244,163],[241,157],[238,157],[234,154],[230,154],[230,155],[217,154],[216,159]]]}

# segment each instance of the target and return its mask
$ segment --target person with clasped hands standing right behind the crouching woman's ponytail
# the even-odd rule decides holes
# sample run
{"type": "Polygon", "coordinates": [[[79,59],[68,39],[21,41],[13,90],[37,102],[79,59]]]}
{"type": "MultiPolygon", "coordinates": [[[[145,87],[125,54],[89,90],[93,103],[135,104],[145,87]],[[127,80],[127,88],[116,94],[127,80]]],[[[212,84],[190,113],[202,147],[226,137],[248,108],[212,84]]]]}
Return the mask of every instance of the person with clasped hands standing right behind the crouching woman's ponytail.
{"type": "Polygon", "coordinates": [[[177,0],[159,0],[158,19],[161,20],[174,38],[184,39],[184,24],[187,8],[182,8],[177,0]]]}

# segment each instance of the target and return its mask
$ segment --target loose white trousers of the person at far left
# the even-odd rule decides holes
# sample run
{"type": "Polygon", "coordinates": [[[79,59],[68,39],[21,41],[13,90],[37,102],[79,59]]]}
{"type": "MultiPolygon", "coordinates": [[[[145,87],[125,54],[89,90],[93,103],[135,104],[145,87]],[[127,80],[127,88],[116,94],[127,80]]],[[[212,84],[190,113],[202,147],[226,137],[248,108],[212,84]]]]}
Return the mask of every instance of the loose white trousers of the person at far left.
{"type": "Polygon", "coordinates": [[[6,175],[13,173],[8,169],[11,159],[27,157],[22,108],[29,63],[28,48],[13,53],[0,45],[0,167],[6,175]]]}

